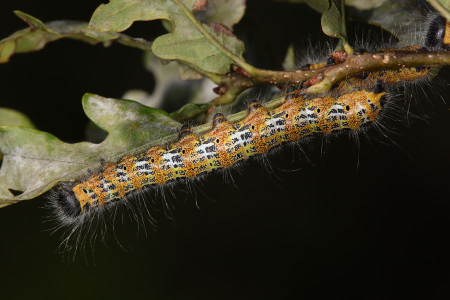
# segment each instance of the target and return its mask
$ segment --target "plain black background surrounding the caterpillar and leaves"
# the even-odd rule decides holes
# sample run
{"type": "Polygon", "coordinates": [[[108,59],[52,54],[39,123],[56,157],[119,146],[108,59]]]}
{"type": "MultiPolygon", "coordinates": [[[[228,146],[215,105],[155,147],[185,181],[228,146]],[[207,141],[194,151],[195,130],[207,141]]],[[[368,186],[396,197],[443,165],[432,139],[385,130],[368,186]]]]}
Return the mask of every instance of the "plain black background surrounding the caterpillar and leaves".
{"type": "MultiPolygon", "coordinates": [[[[7,1],[0,37],[25,27],[13,9],[43,21],[87,21],[100,3],[7,1]]],[[[279,69],[290,41],[301,47],[307,33],[317,39],[319,20],[303,5],[253,0],[235,32],[249,62],[279,69]]],[[[150,40],[163,32],[159,21],[127,30],[150,40]]],[[[0,65],[0,105],[64,141],[85,140],[81,96],[151,92],[141,60],[139,50],[122,45],[59,40],[0,65]]],[[[447,74],[433,87],[444,99],[447,74]]],[[[196,194],[175,190],[175,225],[156,197],[156,230],[147,224],[146,235],[136,234],[127,218],[115,225],[124,249],[109,228],[107,246],[97,242],[93,253],[86,247],[63,261],[43,197],[2,208],[1,297],[448,298],[450,115],[434,89],[425,93],[410,107],[422,117],[394,122],[389,138],[371,131],[369,141],[334,138],[325,150],[316,140],[306,147],[310,162],[285,147],[268,157],[273,172],[253,159],[231,170],[235,186],[215,173],[196,194]]]]}

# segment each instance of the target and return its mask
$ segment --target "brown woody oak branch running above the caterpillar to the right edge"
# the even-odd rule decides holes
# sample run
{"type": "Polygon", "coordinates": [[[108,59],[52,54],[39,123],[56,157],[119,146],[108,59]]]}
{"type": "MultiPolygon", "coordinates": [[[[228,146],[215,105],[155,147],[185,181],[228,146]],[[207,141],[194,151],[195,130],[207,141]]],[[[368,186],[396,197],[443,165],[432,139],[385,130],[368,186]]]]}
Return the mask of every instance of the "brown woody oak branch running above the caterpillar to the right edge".
{"type": "MultiPolygon", "coordinates": [[[[236,72],[221,76],[220,86],[225,92],[197,109],[182,109],[172,113],[175,118],[190,118],[203,113],[211,106],[232,103],[243,90],[262,84],[300,85],[318,74],[323,79],[306,89],[307,93],[319,93],[329,90],[334,84],[347,76],[365,71],[394,70],[404,67],[435,67],[450,64],[450,51],[389,51],[368,54],[349,55],[339,64],[312,70],[272,71],[255,69],[255,77],[245,77],[236,72]]],[[[206,75],[207,76],[207,75],[206,75]]],[[[215,82],[215,81],[214,81],[215,82]]],[[[184,107],[183,107],[184,108],[184,107]]]]}

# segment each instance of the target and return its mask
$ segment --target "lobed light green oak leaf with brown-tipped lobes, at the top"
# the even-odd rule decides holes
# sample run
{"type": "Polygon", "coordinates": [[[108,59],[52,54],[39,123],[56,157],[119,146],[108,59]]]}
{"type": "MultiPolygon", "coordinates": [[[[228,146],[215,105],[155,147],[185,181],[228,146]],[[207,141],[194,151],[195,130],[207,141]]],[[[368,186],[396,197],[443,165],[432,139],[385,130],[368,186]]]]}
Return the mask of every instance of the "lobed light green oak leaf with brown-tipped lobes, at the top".
{"type": "MultiPolygon", "coordinates": [[[[182,0],[188,10],[205,9],[204,0],[182,0]]],[[[209,36],[195,26],[193,21],[176,3],[170,0],[111,0],[94,11],[88,28],[95,30],[122,31],[136,20],[168,19],[173,31],[157,37],[151,50],[164,59],[177,59],[191,63],[200,70],[224,74],[233,62],[208,39],[212,36],[237,57],[243,60],[244,45],[224,25],[200,24],[209,36]]]]}

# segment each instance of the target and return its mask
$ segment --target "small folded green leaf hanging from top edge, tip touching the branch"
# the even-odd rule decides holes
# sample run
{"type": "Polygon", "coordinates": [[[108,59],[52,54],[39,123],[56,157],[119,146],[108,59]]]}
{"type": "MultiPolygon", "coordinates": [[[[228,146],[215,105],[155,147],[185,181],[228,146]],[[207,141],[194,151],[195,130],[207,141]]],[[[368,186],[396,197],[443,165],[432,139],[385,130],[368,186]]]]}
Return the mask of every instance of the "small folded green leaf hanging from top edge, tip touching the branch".
{"type": "Polygon", "coordinates": [[[343,48],[348,54],[353,53],[353,49],[348,43],[345,28],[345,1],[329,0],[328,9],[322,14],[322,30],[326,35],[338,37],[343,43],[343,48]]]}

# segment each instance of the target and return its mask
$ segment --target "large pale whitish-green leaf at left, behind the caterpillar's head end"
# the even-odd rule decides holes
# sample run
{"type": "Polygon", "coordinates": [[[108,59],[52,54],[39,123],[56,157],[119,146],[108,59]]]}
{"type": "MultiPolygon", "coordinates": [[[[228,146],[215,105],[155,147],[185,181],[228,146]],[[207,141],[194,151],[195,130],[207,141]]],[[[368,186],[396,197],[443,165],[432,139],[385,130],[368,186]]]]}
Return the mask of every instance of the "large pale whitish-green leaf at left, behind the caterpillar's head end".
{"type": "Polygon", "coordinates": [[[0,149],[4,153],[0,168],[0,205],[36,197],[59,181],[73,180],[87,167],[99,165],[99,158],[115,160],[121,156],[118,151],[148,146],[181,126],[165,111],[131,100],[87,93],[82,104],[86,115],[109,132],[99,144],[70,144],[31,128],[0,127],[0,149]],[[14,197],[8,189],[23,193],[14,197]]]}

